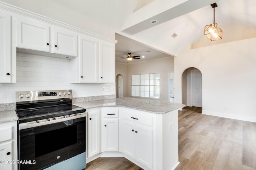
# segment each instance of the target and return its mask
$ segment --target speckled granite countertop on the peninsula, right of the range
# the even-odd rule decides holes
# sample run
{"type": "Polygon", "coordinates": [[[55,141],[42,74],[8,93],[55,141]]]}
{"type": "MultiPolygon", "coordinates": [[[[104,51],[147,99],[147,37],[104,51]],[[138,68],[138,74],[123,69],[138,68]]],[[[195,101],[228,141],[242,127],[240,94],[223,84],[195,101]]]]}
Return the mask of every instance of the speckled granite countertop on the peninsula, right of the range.
{"type": "Polygon", "coordinates": [[[91,109],[95,107],[126,107],[130,109],[137,109],[150,113],[164,114],[184,107],[184,104],[163,102],[160,100],[142,99],[142,98],[115,98],[108,100],[96,100],[90,102],[74,103],[78,107],[91,109]]]}

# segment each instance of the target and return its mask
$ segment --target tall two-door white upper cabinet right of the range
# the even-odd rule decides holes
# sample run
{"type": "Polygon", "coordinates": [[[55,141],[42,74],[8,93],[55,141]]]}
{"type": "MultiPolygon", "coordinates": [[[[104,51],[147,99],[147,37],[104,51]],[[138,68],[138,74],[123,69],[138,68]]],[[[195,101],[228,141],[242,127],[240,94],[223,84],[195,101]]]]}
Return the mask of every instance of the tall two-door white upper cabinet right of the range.
{"type": "Polygon", "coordinates": [[[78,58],[71,59],[71,83],[114,83],[115,42],[79,35],[78,58]]]}

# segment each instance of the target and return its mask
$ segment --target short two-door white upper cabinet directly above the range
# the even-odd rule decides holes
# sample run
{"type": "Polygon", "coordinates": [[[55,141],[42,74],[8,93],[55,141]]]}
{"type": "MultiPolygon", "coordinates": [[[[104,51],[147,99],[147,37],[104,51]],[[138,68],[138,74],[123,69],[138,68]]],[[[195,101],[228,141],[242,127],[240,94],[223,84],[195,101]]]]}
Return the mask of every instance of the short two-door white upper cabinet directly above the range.
{"type": "Polygon", "coordinates": [[[77,57],[74,31],[28,18],[16,18],[16,31],[18,48],[77,57]]]}

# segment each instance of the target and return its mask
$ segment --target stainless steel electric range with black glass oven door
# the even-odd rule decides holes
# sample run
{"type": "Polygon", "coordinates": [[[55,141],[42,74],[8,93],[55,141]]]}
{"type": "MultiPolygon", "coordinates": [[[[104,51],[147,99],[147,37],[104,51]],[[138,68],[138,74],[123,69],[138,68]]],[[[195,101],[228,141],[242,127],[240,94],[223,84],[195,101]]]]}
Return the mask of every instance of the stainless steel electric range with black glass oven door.
{"type": "Polygon", "coordinates": [[[16,92],[19,169],[85,168],[85,111],[72,90],[16,92]]]}

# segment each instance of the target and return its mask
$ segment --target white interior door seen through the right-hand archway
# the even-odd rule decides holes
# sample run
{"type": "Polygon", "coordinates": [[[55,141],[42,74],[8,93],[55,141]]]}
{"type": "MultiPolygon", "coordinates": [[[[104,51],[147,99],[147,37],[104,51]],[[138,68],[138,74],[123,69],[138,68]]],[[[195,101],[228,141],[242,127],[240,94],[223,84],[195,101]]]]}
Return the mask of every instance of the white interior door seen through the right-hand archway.
{"type": "Polygon", "coordinates": [[[192,106],[202,107],[202,74],[200,70],[192,71],[192,106]]]}

